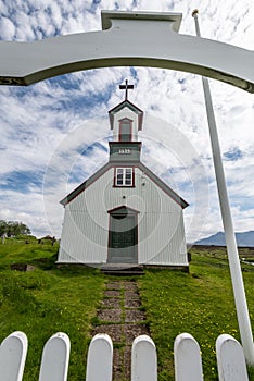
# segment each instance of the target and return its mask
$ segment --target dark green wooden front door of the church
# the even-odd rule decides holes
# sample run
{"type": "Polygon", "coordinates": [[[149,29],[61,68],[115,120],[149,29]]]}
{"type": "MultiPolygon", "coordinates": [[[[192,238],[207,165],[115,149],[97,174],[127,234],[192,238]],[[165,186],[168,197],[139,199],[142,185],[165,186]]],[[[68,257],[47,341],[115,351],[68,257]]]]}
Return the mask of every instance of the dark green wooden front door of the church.
{"type": "Polygon", "coordinates": [[[109,258],[110,263],[138,262],[137,214],[112,213],[110,216],[109,258]]]}

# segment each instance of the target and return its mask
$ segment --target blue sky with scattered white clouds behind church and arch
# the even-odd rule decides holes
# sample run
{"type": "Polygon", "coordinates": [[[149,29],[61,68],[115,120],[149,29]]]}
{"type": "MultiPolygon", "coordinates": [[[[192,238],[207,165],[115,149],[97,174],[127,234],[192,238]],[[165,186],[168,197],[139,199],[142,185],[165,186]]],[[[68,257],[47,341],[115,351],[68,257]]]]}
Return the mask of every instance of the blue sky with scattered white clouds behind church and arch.
{"type": "MultiPolygon", "coordinates": [[[[254,50],[251,0],[0,0],[0,39],[34,41],[101,29],[101,10],[182,13],[181,34],[254,50]]],[[[0,87],[0,219],[60,237],[59,201],[107,160],[107,111],[124,99],[144,111],[142,161],[179,193],[188,241],[221,231],[201,78],[151,67],[72,73],[28,87],[0,87]]],[[[254,230],[254,97],[211,79],[236,231],[254,230]]]]}

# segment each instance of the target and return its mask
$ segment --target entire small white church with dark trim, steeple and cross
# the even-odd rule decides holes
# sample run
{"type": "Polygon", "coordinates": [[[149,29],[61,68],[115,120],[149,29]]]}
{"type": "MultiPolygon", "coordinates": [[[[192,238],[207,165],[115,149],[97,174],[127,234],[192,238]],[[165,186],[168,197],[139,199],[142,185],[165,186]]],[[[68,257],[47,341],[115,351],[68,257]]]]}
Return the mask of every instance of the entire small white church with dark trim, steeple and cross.
{"type": "Polygon", "coordinates": [[[109,111],[109,162],[61,204],[58,263],[188,267],[182,210],[188,204],[141,161],[143,112],[128,98],[109,111]]]}

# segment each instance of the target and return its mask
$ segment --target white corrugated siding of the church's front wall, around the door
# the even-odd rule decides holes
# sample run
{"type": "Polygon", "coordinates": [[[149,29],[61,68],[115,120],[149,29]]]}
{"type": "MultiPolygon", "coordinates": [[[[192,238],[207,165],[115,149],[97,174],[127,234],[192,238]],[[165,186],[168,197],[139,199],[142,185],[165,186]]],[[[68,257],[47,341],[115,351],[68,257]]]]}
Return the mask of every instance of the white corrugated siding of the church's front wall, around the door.
{"type": "Polygon", "coordinates": [[[105,263],[107,211],[125,205],[139,211],[139,263],[188,266],[181,207],[138,168],[135,188],[112,188],[113,177],[110,169],[66,205],[58,261],[105,263]]]}

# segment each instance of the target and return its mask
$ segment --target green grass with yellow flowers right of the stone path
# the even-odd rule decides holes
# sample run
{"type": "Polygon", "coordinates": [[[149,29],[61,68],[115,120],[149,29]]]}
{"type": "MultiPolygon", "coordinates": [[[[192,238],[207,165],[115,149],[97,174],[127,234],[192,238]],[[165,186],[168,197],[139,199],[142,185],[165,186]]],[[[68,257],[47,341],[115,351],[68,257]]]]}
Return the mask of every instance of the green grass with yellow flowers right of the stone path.
{"type": "MultiPolygon", "coordinates": [[[[194,251],[196,253],[196,251],[194,251]]],[[[192,334],[201,346],[205,380],[217,380],[215,342],[219,334],[240,339],[228,263],[221,253],[192,254],[190,274],[154,270],[139,281],[152,337],[158,352],[158,380],[174,380],[174,339],[192,334]],[[213,258],[212,258],[213,257],[213,258]]],[[[243,272],[254,324],[254,272],[243,272]]],[[[249,270],[249,271],[247,271],[249,270]]],[[[254,379],[252,370],[251,379],[254,379]]]]}

